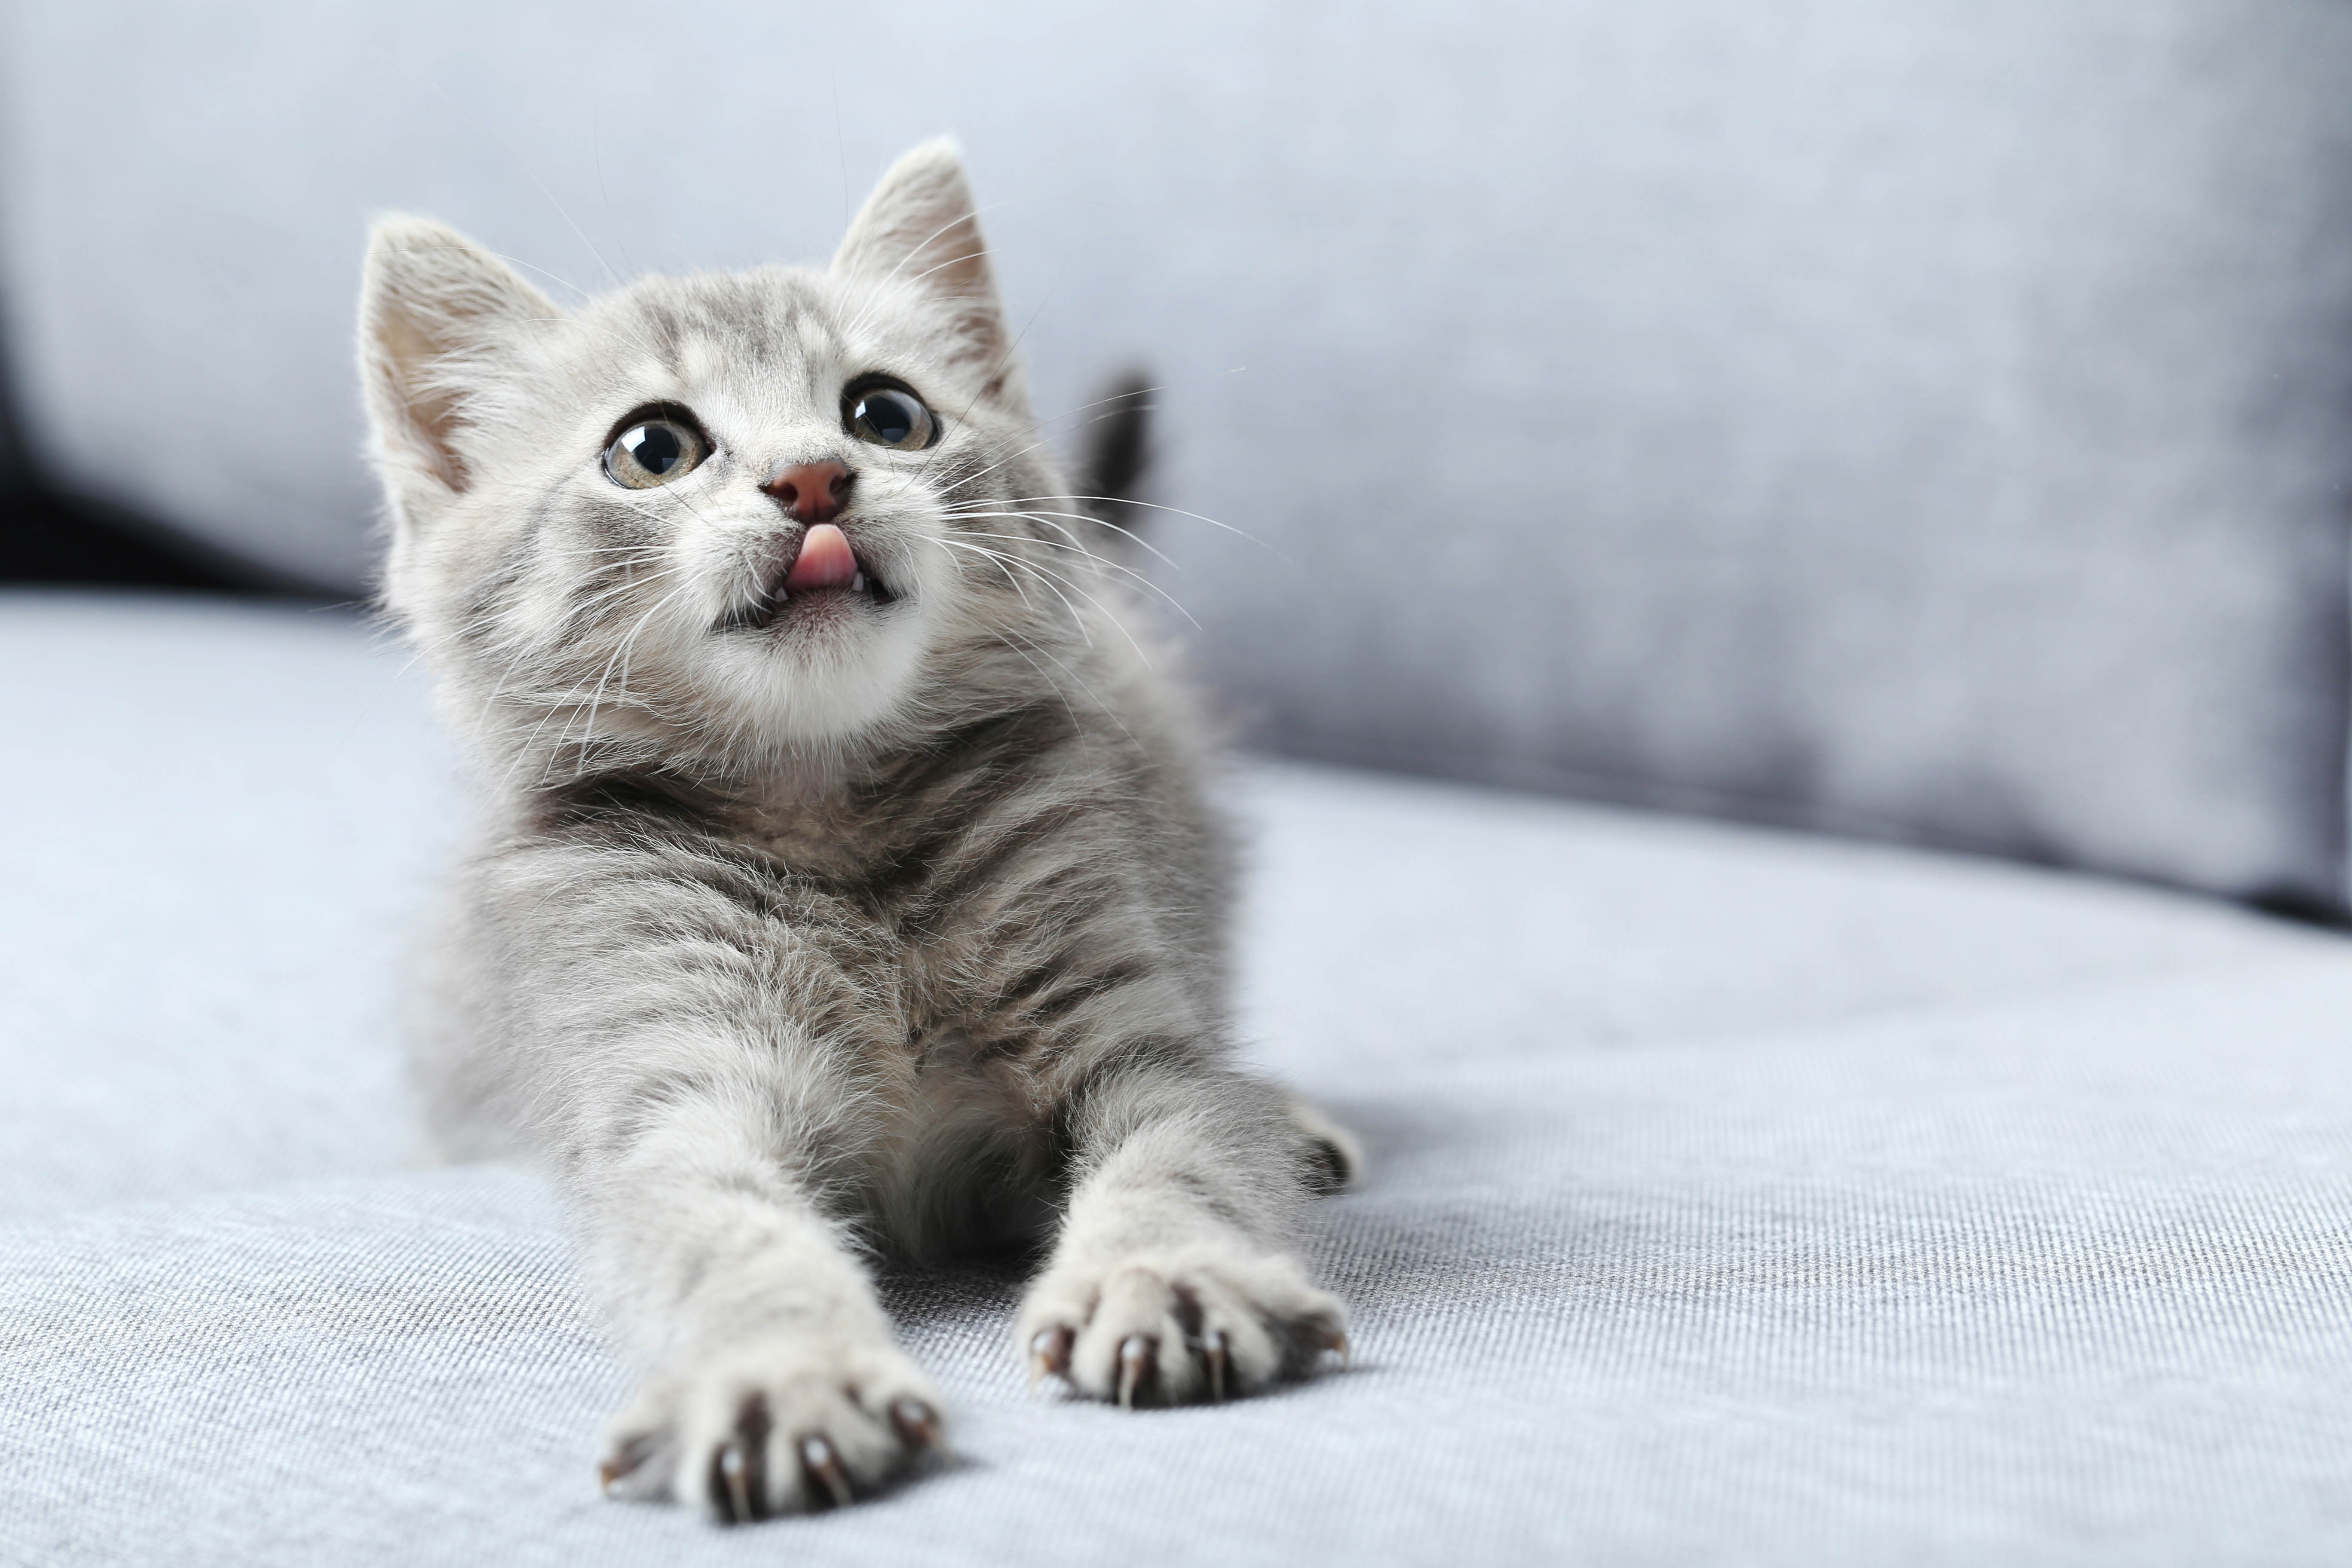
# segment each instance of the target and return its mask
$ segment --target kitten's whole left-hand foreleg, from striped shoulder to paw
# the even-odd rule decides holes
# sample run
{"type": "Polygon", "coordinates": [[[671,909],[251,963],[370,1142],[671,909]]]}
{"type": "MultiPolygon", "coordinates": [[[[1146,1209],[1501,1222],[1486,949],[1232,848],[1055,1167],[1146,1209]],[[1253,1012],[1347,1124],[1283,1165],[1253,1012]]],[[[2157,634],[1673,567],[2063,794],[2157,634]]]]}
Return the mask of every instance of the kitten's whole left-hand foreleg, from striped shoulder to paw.
{"type": "Polygon", "coordinates": [[[553,1164],[644,1371],[607,1486],[760,1519],[934,1448],[842,1222],[906,1041],[870,924],[654,830],[485,860],[468,910],[468,1077],[553,1164]]]}

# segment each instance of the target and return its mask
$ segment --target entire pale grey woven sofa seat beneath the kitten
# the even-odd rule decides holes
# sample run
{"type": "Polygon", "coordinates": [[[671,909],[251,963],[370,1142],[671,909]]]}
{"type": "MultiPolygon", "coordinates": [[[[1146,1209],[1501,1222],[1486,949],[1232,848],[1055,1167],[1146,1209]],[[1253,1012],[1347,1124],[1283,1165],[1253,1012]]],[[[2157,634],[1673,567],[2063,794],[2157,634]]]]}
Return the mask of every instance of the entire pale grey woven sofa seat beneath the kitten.
{"type": "Polygon", "coordinates": [[[722,1533],[595,1497],[623,1375],[546,1190],[405,1168],[456,832],[414,675],[341,616],[21,592],[0,670],[9,1568],[2352,1552],[2343,938],[1251,764],[1254,1051],[1371,1147],[1317,1239],[1355,1368],[1030,1399],[1009,1276],[896,1276],[962,1465],[722,1533]]]}

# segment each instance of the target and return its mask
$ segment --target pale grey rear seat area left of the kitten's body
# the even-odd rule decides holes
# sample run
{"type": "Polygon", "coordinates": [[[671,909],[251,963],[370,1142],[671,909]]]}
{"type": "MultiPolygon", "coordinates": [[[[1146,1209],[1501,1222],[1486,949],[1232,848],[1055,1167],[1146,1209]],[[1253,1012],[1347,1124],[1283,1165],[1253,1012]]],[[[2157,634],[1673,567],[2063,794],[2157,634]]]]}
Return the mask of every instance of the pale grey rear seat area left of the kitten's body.
{"type": "Polygon", "coordinates": [[[0,1213],[414,1154],[454,757],[348,611],[0,592],[0,1213]]]}

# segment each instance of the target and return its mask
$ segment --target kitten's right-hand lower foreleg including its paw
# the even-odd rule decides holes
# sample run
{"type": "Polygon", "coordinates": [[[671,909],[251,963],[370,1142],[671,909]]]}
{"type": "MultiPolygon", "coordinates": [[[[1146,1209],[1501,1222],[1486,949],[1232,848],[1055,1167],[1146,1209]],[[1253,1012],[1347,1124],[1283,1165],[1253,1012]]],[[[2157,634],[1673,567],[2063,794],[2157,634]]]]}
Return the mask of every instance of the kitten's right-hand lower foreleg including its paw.
{"type": "Polygon", "coordinates": [[[1348,1312],[1296,1253],[1305,1199],[1329,1178],[1279,1088],[1134,1065],[1075,1095],[1065,1128],[1068,1218],[1014,1331],[1033,1375],[1124,1406],[1183,1403],[1345,1352],[1348,1312]]]}

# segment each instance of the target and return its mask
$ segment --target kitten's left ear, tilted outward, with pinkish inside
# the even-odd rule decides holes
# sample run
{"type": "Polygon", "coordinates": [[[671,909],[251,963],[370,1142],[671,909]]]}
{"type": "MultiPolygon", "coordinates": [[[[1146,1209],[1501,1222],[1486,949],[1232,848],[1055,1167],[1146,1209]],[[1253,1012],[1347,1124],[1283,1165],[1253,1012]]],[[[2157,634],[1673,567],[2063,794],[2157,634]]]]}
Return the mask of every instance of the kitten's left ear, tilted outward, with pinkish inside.
{"type": "Polygon", "coordinates": [[[466,402],[503,343],[557,315],[555,301],[454,228],[376,219],[360,282],[360,383],[395,515],[466,489],[466,402]]]}

